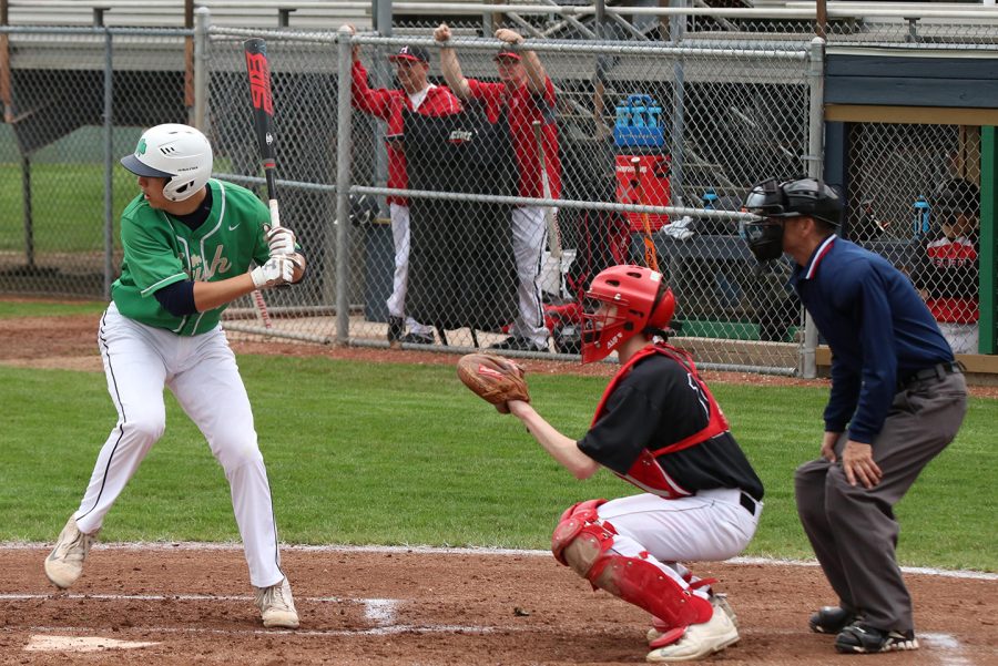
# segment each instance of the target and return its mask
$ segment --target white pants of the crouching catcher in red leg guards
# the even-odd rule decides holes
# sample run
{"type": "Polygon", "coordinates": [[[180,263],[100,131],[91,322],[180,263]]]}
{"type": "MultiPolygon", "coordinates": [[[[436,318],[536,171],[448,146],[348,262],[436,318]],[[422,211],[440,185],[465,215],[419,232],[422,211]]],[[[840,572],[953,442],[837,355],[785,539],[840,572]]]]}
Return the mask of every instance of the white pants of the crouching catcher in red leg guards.
{"type": "MultiPolygon", "coordinates": [[[[686,588],[699,578],[690,575],[682,561],[729,560],[755,535],[762,502],[751,514],[740,504],[740,495],[733,489],[700,491],[679,500],[645,493],[611,500],[598,512],[618,533],[610,550],[625,557],[648,552],[649,562],[686,588]]],[[[704,590],[693,593],[706,597],[704,590]]]]}

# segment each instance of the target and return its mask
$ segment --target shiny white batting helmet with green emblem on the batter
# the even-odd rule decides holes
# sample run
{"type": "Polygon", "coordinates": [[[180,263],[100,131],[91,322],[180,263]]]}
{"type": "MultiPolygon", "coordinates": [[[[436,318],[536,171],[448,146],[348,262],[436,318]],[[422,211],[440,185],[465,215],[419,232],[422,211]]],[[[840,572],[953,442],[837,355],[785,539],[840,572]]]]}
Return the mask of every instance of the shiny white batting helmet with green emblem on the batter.
{"type": "Polygon", "coordinates": [[[194,196],[212,175],[212,145],[187,125],[167,123],[146,130],[135,152],[121,165],[136,176],[166,178],[163,196],[182,202],[194,196]]]}

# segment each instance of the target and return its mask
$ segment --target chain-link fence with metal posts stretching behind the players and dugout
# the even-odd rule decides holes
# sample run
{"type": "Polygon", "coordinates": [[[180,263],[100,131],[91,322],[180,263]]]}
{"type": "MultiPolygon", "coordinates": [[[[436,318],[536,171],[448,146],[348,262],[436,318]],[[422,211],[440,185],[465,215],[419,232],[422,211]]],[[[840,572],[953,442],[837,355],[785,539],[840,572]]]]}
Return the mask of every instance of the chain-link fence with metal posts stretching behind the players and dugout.
{"type": "MultiPolygon", "coordinates": [[[[679,303],[674,341],[700,362],[800,372],[806,320],[787,287],[791,265],[754,260],[737,211],[766,177],[821,175],[814,21],[507,16],[551,82],[547,95],[511,109],[498,103],[508,101],[510,69],[495,59],[499,23],[451,19],[450,45],[481,99],[437,91],[417,98],[421,111],[378,91],[404,88],[414,68],[398,60],[403,49],[424,50],[428,81],[446,83],[436,17],[399,21],[394,38],[361,30],[348,43],[296,30],[203,27],[197,42],[197,31],[182,30],[3,29],[11,100],[0,125],[0,291],[108,294],[121,258],[116,216],[135,193],[116,161],[143,127],[203,122],[216,177],[263,194],[242,41],[265,37],[282,219],[309,269],[304,284],[265,293],[273,328],[246,298],[227,310],[228,329],[573,356],[588,279],[654,260],[679,303]],[[192,68],[205,81],[195,106],[192,68]]],[[[995,51],[994,34],[935,19],[826,24],[829,48],[995,51]]],[[[958,182],[979,184],[979,129],[851,123],[848,132],[844,233],[908,270],[940,322],[954,325],[954,347],[969,350],[976,326],[960,319],[976,305],[954,299],[971,298],[964,291],[977,284],[980,197],[958,182]],[[946,195],[947,185],[958,193],[946,195]]]]}

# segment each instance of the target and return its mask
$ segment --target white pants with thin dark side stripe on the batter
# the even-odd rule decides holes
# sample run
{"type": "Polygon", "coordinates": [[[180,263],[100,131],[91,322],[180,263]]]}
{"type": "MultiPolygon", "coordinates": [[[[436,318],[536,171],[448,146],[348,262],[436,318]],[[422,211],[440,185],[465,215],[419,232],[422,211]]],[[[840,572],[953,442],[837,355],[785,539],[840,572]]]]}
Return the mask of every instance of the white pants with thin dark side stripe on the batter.
{"type": "Polygon", "coordinates": [[[277,527],[249,398],[221,327],[177,336],[122,316],[112,303],[101,318],[98,342],[118,424],[104,442],[77,525],[98,530],[150,449],[163,436],[169,387],[205,436],[222,464],[243,539],[249,582],[268,587],[284,578],[277,527]]]}

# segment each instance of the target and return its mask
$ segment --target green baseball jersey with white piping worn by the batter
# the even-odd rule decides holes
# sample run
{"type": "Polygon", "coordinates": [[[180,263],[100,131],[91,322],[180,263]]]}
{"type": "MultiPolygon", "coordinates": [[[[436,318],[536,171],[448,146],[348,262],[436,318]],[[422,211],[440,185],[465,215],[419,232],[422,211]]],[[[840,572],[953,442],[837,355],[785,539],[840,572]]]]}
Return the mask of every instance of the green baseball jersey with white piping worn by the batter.
{"type": "Polygon", "coordinates": [[[271,222],[267,206],[232,183],[211,180],[206,186],[212,188],[212,212],[196,229],[151,207],[141,194],[121,214],[124,260],[111,298],[125,317],[181,336],[211,330],[227,305],[177,317],[153,295],[173,283],[235,277],[253,262],[269,258],[264,235],[264,225],[271,222]]]}

